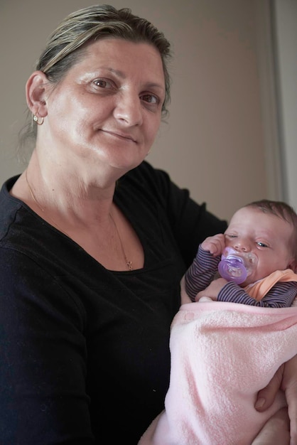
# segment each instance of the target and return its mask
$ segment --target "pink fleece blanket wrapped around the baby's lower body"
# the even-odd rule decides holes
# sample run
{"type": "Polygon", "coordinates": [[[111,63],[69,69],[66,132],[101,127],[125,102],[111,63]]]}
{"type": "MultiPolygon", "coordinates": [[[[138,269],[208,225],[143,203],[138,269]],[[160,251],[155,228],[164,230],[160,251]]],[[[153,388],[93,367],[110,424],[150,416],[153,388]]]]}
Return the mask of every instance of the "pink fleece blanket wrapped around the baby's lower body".
{"type": "Polygon", "coordinates": [[[139,445],[250,445],[286,405],[279,392],[269,410],[254,409],[257,392],[297,353],[297,307],[183,304],[170,347],[165,410],[139,445]]]}

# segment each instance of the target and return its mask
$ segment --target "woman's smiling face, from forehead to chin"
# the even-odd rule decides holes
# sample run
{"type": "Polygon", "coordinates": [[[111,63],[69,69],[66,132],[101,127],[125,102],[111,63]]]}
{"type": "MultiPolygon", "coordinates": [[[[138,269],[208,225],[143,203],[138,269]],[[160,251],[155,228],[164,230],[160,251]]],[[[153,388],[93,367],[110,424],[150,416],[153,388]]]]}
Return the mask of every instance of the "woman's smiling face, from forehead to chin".
{"type": "Polygon", "coordinates": [[[161,56],[153,46],[118,38],[97,41],[48,90],[39,140],[67,165],[124,173],[148,154],[164,97],[161,56]]]}

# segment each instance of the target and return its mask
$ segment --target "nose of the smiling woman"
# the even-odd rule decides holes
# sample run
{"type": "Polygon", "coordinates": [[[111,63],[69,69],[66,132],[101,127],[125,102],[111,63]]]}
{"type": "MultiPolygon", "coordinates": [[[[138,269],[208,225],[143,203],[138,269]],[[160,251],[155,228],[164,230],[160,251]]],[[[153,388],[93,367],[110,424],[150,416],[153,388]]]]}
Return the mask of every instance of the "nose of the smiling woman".
{"type": "Polygon", "coordinates": [[[122,123],[133,126],[142,124],[142,107],[139,95],[125,92],[117,100],[114,117],[122,123]]]}

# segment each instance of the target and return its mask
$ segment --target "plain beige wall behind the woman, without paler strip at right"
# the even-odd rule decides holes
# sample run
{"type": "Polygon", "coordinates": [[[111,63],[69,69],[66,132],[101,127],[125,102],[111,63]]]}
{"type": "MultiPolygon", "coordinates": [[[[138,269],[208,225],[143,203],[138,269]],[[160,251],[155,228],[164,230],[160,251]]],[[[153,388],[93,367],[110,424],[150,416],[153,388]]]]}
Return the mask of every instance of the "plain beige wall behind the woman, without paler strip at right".
{"type": "MultiPolygon", "coordinates": [[[[112,1],[151,20],[173,45],[171,115],[148,161],[222,218],[269,193],[257,1],[112,1]]],[[[24,87],[45,38],[66,14],[94,3],[0,0],[0,183],[24,168],[15,157],[24,87]]]]}

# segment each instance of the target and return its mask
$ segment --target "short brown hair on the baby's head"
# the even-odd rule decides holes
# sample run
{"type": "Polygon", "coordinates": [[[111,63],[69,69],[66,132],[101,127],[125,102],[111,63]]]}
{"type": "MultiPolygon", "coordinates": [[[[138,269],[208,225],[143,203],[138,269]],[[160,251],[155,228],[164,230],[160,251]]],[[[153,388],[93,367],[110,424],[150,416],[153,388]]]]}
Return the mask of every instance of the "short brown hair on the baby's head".
{"type": "Polygon", "coordinates": [[[291,205],[282,201],[262,199],[244,205],[244,207],[259,208],[263,213],[275,215],[293,226],[292,250],[297,261],[297,214],[291,205]]]}

